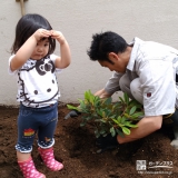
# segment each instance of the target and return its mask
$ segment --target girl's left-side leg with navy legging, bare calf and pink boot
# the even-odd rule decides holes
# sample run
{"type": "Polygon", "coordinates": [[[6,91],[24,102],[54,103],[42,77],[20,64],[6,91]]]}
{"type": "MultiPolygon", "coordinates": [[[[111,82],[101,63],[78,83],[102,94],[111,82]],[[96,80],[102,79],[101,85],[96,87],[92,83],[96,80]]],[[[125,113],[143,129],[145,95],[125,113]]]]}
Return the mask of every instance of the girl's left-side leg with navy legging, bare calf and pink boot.
{"type": "Polygon", "coordinates": [[[31,158],[32,142],[38,129],[34,113],[30,108],[20,107],[18,117],[18,142],[16,145],[19,167],[24,178],[46,178],[39,172],[31,158]]]}

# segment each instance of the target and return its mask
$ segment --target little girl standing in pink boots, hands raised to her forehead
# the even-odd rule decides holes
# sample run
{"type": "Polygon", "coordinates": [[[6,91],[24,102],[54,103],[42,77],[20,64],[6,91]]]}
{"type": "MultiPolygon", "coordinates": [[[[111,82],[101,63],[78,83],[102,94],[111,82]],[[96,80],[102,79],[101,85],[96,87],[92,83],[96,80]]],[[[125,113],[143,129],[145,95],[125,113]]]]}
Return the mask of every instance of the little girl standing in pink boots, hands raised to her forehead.
{"type": "Polygon", "coordinates": [[[32,161],[31,151],[38,134],[38,151],[44,165],[60,170],[63,165],[55,160],[52,146],[58,121],[60,97],[56,72],[70,65],[70,49],[60,31],[52,30],[48,20],[39,14],[23,16],[16,27],[16,39],[9,59],[9,72],[18,79],[17,158],[24,178],[44,178],[32,161]],[[56,40],[61,57],[53,55],[56,40]]]}

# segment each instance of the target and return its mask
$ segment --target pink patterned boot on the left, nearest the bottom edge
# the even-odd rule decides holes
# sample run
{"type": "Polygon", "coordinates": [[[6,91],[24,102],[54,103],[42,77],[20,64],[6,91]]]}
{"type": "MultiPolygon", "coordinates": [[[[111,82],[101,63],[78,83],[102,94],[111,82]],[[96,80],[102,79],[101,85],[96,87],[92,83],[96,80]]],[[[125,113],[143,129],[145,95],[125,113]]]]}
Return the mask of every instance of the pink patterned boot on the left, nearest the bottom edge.
{"type": "Polygon", "coordinates": [[[44,175],[36,169],[31,157],[26,161],[18,161],[18,164],[24,178],[46,178],[44,175]]]}

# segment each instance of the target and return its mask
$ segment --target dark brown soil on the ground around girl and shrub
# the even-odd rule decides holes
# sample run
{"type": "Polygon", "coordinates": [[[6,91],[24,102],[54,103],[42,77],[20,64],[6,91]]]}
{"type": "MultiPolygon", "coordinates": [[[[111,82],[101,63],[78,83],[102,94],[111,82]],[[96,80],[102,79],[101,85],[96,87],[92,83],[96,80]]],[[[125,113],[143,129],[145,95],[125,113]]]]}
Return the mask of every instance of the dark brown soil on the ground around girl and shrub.
{"type": "MultiPolygon", "coordinates": [[[[65,168],[51,171],[42,164],[34,141],[32,157],[36,167],[47,178],[178,178],[178,150],[170,146],[171,129],[157,132],[118,149],[96,154],[95,135],[91,126],[80,127],[80,118],[65,120],[69,110],[59,105],[59,121],[56,130],[55,155],[65,168]],[[136,161],[146,160],[147,168],[137,170],[136,161]],[[158,162],[159,161],[159,162],[158,162]],[[149,168],[166,165],[172,168],[149,168]]],[[[22,178],[14,145],[17,140],[18,108],[0,107],[0,178],[22,178]]]]}

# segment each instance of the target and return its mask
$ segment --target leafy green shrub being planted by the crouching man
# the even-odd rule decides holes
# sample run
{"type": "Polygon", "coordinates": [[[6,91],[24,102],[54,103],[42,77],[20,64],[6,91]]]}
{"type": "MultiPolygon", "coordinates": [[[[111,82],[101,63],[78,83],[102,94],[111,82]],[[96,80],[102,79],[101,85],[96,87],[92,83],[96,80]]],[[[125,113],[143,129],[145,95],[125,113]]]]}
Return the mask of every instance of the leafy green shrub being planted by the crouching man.
{"type": "Polygon", "coordinates": [[[85,92],[85,99],[79,99],[79,107],[67,107],[82,113],[81,127],[87,123],[93,125],[97,138],[106,137],[108,134],[112,137],[117,134],[121,137],[130,135],[130,128],[137,128],[137,122],[144,116],[142,106],[136,100],[130,100],[127,93],[119,97],[117,102],[112,102],[111,98],[100,99],[88,90],[85,92]]]}

